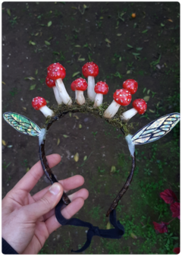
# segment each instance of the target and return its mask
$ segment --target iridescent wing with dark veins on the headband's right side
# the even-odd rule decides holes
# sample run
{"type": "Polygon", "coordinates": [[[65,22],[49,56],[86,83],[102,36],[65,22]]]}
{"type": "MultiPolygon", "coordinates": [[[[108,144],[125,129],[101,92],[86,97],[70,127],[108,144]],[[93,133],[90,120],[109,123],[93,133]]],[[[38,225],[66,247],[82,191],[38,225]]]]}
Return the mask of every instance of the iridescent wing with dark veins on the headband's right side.
{"type": "Polygon", "coordinates": [[[171,113],[150,122],[133,135],[131,138],[133,144],[140,145],[159,140],[165,134],[168,134],[180,120],[181,114],[171,113]]]}

